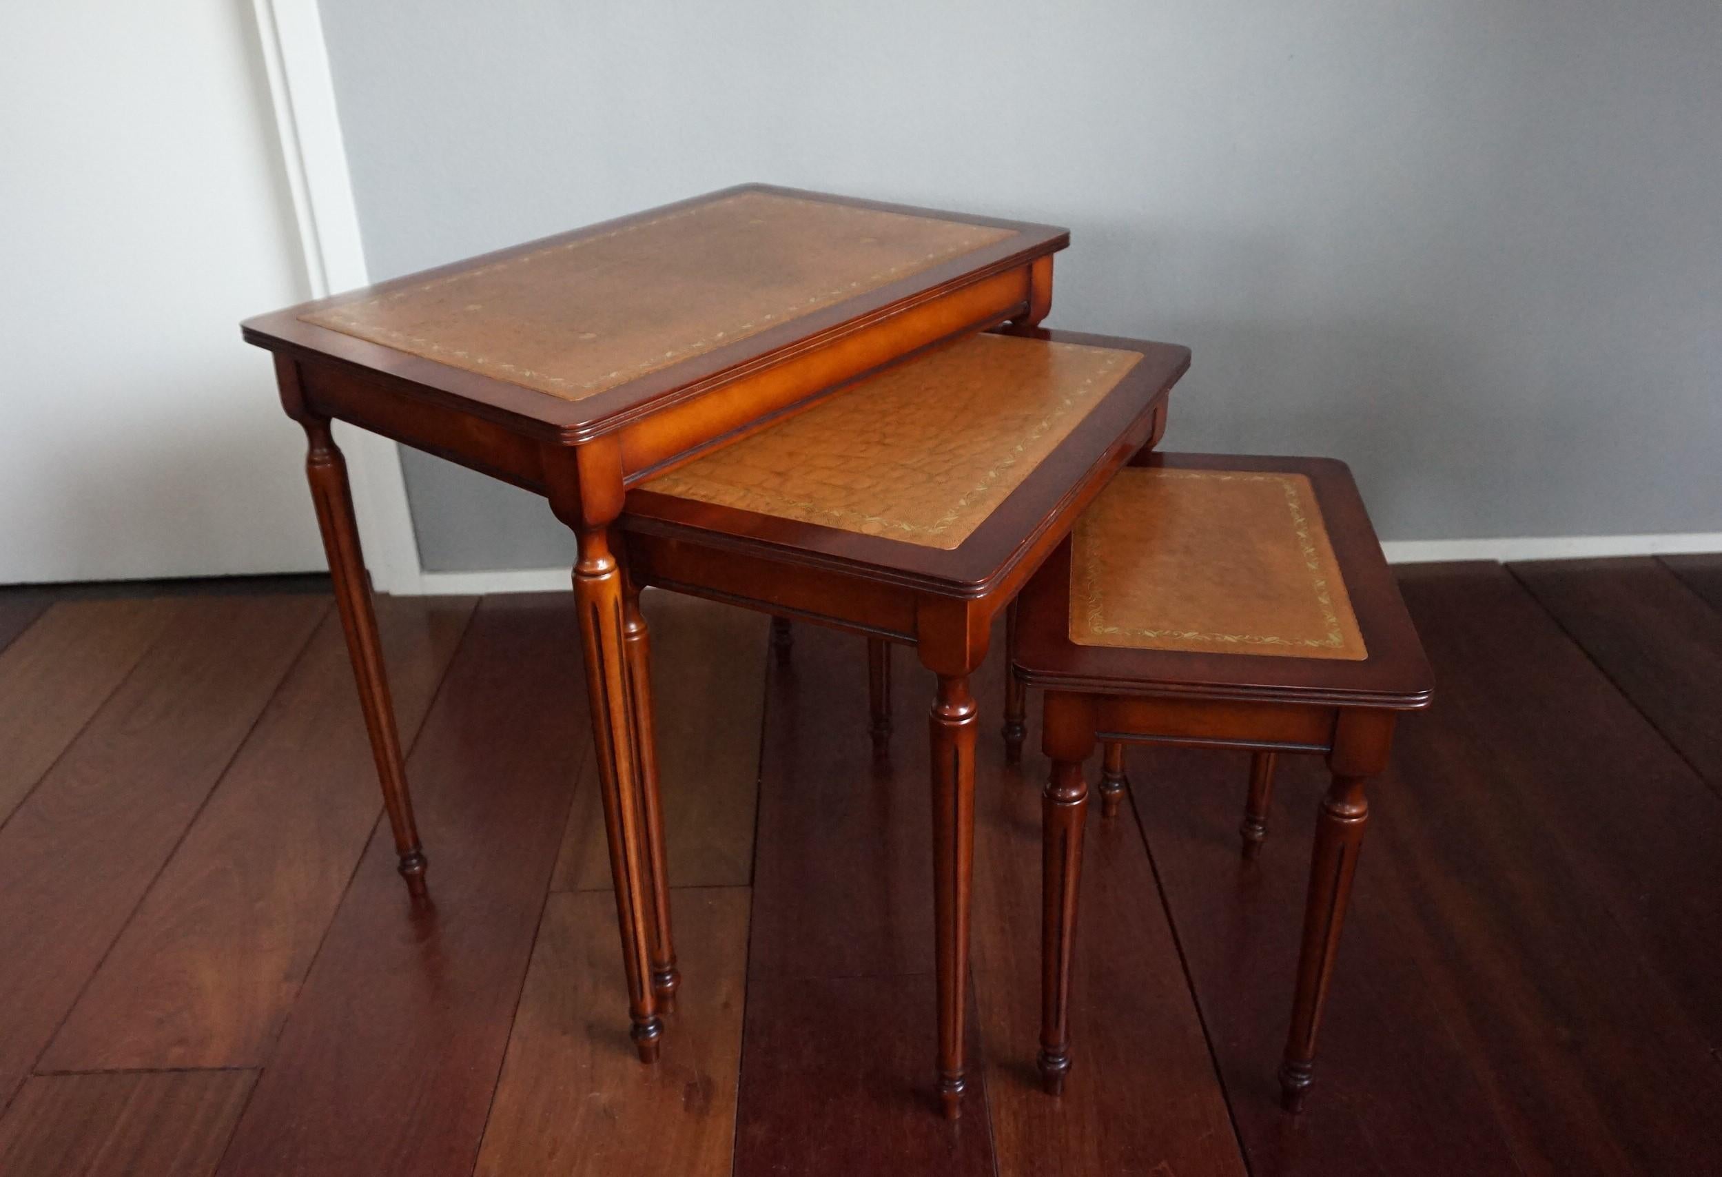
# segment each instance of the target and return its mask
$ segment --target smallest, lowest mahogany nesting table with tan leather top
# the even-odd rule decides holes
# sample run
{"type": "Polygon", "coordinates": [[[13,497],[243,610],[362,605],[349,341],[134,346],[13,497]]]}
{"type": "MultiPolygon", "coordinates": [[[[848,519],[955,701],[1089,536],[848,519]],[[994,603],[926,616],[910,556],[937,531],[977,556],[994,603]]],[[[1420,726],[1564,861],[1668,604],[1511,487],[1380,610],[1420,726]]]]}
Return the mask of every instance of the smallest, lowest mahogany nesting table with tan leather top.
{"type": "MultiPolygon", "coordinates": [[[[1069,977],[1095,743],[1255,753],[1243,853],[1267,832],[1273,758],[1324,755],[1281,1098],[1302,1106],[1369,805],[1400,712],[1431,672],[1343,464],[1155,453],[1123,470],[1023,591],[1016,674],[1045,688],[1040,1072],[1069,1070],[1069,977]]],[[[1111,765],[1109,765],[1111,767],[1111,765]]],[[[1111,810],[1112,806],[1107,805],[1111,810]]]]}

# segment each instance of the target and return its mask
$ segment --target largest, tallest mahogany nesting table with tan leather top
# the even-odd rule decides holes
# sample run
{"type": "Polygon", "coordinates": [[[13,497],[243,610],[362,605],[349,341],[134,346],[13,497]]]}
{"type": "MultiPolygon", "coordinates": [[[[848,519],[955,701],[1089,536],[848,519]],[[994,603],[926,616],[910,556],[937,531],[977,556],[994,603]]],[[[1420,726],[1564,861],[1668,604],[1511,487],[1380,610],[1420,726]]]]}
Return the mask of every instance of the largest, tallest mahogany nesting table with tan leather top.
{"type": "Polygon", "coordinates": [[[425,894],[351,495],[331,419],[544,495],[580,612],[632,1037],[677,972],[656,839],[646,622],[610,526],[629,486],[833,386],[1052,300],[1064,229],[749,184],[243,324],[276,353],[410,893],[425,894]],[[656,896],[656,898],[654,898],[656,896]],[[656,910],[654,910],[656,908],[656,910]]]}

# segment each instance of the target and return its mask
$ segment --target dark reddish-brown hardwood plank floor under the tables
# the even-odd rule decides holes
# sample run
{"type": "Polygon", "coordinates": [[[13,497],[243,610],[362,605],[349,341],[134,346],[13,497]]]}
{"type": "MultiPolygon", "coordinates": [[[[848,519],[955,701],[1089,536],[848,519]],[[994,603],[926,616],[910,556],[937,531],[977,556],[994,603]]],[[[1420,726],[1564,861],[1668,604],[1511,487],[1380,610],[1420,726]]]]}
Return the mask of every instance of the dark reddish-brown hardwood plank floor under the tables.
{"type": "MultiPolygon", "coordinates": [[[[1133,755],[1033,1082],[1038,786],[983,726],[968,1115],[932,1112],[926,676],[649,596],[685,982],[627,1041],[570,601],[384,600],[434,908],[315,579],[0,593],[0,1174],[1722,1172],[1722,557],[1402,569],[1402,726],[1309,1112],[1319,763],[1133,755]],[[673,674],[672,674],[673,670],[673,674]]],[[[1038,738],[1030,732],[1030,750],[1038,738]]]]}

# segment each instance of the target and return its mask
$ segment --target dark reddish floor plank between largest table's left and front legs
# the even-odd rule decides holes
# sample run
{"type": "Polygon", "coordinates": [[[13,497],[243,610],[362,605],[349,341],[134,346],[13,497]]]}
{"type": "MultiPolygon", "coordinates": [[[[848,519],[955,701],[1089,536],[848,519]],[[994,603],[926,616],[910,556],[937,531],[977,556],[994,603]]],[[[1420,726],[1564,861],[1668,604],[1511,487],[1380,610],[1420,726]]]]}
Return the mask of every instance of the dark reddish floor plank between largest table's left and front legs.
{"type": "Polygon", "coordinates": [[[572,593],[479,605],[406,765],[430,901],[379,827],[222,1174],[472,1174],[591,748],[580,681],[572,593]]]}

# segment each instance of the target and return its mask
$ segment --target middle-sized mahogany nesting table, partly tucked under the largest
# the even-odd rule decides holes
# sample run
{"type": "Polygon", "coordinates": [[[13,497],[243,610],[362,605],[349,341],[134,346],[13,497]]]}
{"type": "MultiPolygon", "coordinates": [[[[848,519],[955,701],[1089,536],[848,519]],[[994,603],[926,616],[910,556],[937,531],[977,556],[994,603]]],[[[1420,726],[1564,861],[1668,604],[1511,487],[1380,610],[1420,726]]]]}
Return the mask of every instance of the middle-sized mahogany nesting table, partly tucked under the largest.
{"type": "MultiPolygon", "coordinates": [[[[938,1093],[966,1086],[975,731],[992,622],[1112,474],[1152,446],[1185,348],[975,334],[632,489],[629,576],[909,643],[932,708],[938,1093]]],[[[661,896],[661,881],[656,884],[661,896]]]]}

